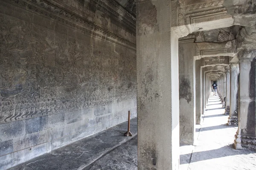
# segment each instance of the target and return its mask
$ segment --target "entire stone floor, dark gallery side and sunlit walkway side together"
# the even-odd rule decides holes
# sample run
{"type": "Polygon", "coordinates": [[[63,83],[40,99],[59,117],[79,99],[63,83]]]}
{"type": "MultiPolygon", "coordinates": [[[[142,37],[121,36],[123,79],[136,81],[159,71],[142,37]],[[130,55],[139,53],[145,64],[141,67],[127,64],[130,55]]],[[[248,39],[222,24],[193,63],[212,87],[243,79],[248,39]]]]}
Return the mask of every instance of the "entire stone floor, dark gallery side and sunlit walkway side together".
{"type": "MultiPolygon", "coordinates": [[[[227,126],[218,96],[211,96],[194,145],[180,146],[180,170],[256,170],[256,151],[232,147],[237,127],[227,126]]],[[[127,122],[61,147],[11,170],[137,170],[137,119],[134,136],[123,137],[127,122]]]]}

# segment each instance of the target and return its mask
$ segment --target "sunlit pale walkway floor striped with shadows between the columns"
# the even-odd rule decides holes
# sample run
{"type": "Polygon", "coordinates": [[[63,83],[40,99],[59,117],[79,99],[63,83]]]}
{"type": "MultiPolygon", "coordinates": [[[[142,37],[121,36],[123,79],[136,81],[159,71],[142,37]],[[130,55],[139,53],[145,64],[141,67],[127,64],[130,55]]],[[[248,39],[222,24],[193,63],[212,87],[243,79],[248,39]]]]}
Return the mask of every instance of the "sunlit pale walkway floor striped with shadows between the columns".
{"type": "Polygon", "coordinates": [[[256,170],[256,151],[233,149],[237,127],[227,126],[218,96],[210,96],[194,146],[180,146],[180,170],[256,170]]]}

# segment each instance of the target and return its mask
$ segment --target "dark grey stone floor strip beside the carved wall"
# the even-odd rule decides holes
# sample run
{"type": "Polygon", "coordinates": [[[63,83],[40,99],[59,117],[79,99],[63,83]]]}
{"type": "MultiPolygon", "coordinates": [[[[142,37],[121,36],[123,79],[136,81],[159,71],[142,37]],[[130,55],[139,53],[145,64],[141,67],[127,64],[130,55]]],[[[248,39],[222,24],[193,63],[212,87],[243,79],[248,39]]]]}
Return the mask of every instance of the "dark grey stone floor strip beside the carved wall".
{"type": "Polygon", "coordinates": [[[123,122],[9,170],[135,169],[137,168],[137,140],[134,139],[137,136],[137,119],[131,119],[132,137],[124,136],[127,125],[127,121],[123,122]]]}

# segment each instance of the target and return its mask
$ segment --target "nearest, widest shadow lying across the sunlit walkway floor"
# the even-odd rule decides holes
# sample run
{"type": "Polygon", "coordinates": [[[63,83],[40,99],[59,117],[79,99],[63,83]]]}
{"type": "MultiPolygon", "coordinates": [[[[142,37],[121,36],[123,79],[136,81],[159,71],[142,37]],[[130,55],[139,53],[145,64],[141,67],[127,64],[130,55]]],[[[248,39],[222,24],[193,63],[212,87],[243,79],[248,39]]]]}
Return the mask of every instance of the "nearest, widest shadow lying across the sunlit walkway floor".
{"type": "Polygon", "coordinates": [[[221,157],[225,157],[225,156],[233,156],[233,155],[247,155],[250,153],[256,153],[256,151],[250,151],[248,152],[248,150],[235,150],[233,149],[233,147],[231,146],[224,146],[218,149],[214,149],[214,150],[207,150],[207,151],[202,151],[202,152],[194,152],[192,153],[188,153],[185,155],[180,155],[180,164],[188,164],[188,161],[192,162],[197,162],[197,161],[204,161],[204,160],[209,160],[209,159],[216,159],[216,158],[221,158],[221,157]],[[188,160],[186,158],[190,158],[191,160],[188,160]],[[187,161],[184,161],[184,158],[187,161]]]}

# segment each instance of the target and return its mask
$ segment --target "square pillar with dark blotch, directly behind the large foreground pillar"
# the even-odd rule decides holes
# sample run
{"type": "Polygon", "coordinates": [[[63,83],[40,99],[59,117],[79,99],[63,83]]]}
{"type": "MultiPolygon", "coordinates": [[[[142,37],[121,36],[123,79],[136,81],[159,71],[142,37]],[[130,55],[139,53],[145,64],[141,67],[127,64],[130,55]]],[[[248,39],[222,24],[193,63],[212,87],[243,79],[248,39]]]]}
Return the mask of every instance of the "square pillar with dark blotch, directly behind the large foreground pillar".
{"type": "Polygon", "coordinates": [[[194,39],[179,40],[180,143],[194,144],[194,39]]]}

